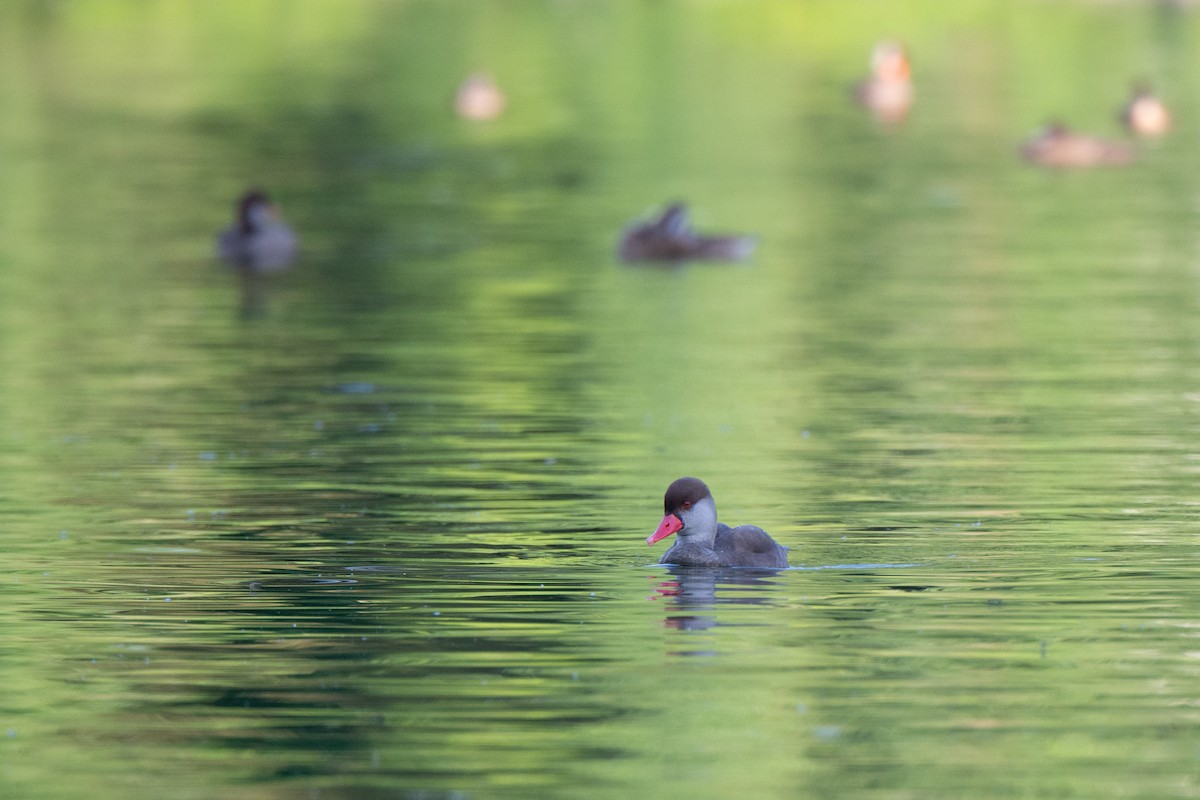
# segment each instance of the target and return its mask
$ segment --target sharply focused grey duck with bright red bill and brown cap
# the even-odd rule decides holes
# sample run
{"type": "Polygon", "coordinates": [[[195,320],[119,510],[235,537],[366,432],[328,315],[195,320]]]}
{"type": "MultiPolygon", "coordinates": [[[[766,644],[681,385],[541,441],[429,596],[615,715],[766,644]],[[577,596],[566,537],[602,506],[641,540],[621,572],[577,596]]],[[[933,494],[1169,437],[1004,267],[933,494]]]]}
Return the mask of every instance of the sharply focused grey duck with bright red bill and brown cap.
{"type": "Polygon", "coordinates": [[[728,525],[716,521],[716,503],[698,477],[680,477],[662,498],[665,516],[646,543],[671,534],[677,539],[659,559],[680,566],[748,566],[769,570],[787,567],[788,548],[757,525],[728,525]]]}

